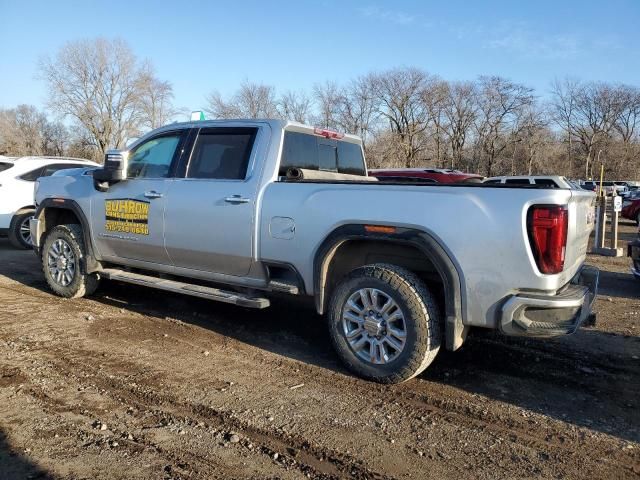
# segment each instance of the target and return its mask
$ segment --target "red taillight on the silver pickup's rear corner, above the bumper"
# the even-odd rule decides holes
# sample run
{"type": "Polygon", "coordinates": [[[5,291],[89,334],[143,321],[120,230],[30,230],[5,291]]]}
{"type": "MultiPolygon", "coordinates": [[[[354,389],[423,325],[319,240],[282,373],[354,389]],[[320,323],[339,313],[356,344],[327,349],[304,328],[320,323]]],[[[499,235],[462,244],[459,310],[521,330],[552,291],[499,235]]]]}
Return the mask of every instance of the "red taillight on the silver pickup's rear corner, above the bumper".
{"type": "Polygon", "coordinates": [[[527,215],[529,242],[542,273],[560,273],[567,248],[569,212],[561,205],[534,205],[527,215]]]}

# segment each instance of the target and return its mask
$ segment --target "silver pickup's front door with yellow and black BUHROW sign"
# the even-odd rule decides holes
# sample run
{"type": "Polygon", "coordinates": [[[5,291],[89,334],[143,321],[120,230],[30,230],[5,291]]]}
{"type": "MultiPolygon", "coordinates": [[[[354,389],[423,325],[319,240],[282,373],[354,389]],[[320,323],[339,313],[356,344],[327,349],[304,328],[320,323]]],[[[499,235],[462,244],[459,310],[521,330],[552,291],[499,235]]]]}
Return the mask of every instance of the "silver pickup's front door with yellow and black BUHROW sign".
{"type": "Polygon", "coordinates": [[[170,265],[164,246],[167,183],[187,132],[162,133],[140,143],[129,152],[127,179],[93,194],[91,226],[102,258],[170,265]]]}

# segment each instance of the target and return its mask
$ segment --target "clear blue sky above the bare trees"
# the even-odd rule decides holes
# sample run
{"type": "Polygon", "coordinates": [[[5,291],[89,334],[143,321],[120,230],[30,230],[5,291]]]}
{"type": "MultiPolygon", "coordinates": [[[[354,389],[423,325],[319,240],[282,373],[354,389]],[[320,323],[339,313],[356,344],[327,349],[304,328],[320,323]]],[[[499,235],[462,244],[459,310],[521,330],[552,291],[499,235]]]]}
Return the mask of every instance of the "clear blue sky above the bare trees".
{"type": "Polygon", "coordinates": [[[97,36],[125,39],[190,110],[245,79],[308,90],[395,66],[542,96],[554,77],[640,85],[640,0],[0,0],[0,107],[43,107],[38,59],[97,36]]]}

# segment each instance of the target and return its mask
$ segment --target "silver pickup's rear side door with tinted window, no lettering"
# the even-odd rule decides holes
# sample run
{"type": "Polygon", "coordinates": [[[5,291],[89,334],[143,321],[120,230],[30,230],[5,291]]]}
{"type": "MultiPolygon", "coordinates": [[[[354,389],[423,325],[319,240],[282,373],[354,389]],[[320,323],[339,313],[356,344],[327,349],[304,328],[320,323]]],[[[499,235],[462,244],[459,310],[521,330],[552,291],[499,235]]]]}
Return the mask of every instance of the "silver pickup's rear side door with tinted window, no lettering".
{"type": "Polygon", "coordinates": [[[267,127],[213,127],[198,132],[183,178],[167,192],[165,242],[176,267],[243,276],[253,255],[267,127]]]}

